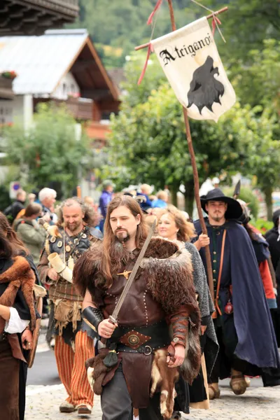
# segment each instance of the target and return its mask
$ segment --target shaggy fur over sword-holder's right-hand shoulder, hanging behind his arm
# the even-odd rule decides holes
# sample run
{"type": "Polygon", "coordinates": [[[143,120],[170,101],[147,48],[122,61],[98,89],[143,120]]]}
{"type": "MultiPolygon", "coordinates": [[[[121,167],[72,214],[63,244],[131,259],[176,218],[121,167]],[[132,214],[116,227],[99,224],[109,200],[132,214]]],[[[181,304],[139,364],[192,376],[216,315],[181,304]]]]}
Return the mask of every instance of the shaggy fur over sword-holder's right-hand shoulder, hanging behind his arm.
{"type": "Polygon", "coordinates": [[[165,309],[167,314],[173,314],[181,305],[186,305],[189,311],[189,330],[186,340],[186,357],[180,367],[184,379],[190,384],[200,371],[201,348],[200,348],[200,309],[195,296],[193,283],[193,265],[191,255],[180,242],[170,242],[166,239],[155,238],[151,241],[149,258],[141,262],[144,269],[148,290],[165,309]],[[175,251],[165,258],[154,257],[162,251],[162,255],[168,255],[169,251],[175,251]]]}

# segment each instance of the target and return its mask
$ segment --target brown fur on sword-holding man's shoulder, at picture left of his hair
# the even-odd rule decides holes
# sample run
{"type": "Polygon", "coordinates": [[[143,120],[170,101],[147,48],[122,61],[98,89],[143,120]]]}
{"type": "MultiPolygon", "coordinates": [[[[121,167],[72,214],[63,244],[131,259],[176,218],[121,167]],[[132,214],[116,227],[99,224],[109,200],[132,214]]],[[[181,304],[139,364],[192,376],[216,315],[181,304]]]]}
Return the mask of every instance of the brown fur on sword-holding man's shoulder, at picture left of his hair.
{"type": "Polygon", "coordinates": [[[102,258],[102,241],[94,241],[88,251],[85,251],[74,265],[73,284],[82,296],[88,289],[94,296],[94,277],[99,272],[99,261],[102,258]]]}

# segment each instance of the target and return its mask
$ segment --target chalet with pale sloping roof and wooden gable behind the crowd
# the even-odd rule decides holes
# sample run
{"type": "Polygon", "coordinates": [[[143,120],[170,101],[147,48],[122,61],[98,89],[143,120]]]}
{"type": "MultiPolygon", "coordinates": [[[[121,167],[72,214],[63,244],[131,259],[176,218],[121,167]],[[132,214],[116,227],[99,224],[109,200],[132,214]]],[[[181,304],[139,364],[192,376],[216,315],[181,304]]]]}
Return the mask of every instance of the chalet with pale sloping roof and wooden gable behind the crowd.
{"type": "MultiPolygon", "coordinates": [[[[12,101],[0,100],[0,124],[31,125],[39,102],[64,102],[87,134],[103,146],[119,90],[85,29],[50,29],[41,36],[0,37],[0,73],[15,71],[12,101]]],[[[1,84],[0,84],[1,92],[1,84]]]]}

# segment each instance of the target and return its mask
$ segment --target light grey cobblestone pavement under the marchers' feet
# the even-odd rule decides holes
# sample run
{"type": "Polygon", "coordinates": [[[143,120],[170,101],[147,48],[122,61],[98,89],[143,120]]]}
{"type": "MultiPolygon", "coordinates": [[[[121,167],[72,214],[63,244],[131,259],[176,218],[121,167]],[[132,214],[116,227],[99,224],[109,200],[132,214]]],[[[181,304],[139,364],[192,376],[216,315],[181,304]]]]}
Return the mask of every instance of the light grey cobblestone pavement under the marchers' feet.
{"type": "MultiPolygon", "coordinates": [[[[192,409],[188,420],[280,420],[280,387],[248,388],[244,395],[233,395],[230,388],[221,388],[222,398],[211,402],[211,409],[192,409]]],[[[59,413],[59,404],[66,397],[62,385],[27,386],[27,409],[25,420],[78,420],[87,418],[101,420],[100,399],[94,398],[91,416],[59,413]]]]}

